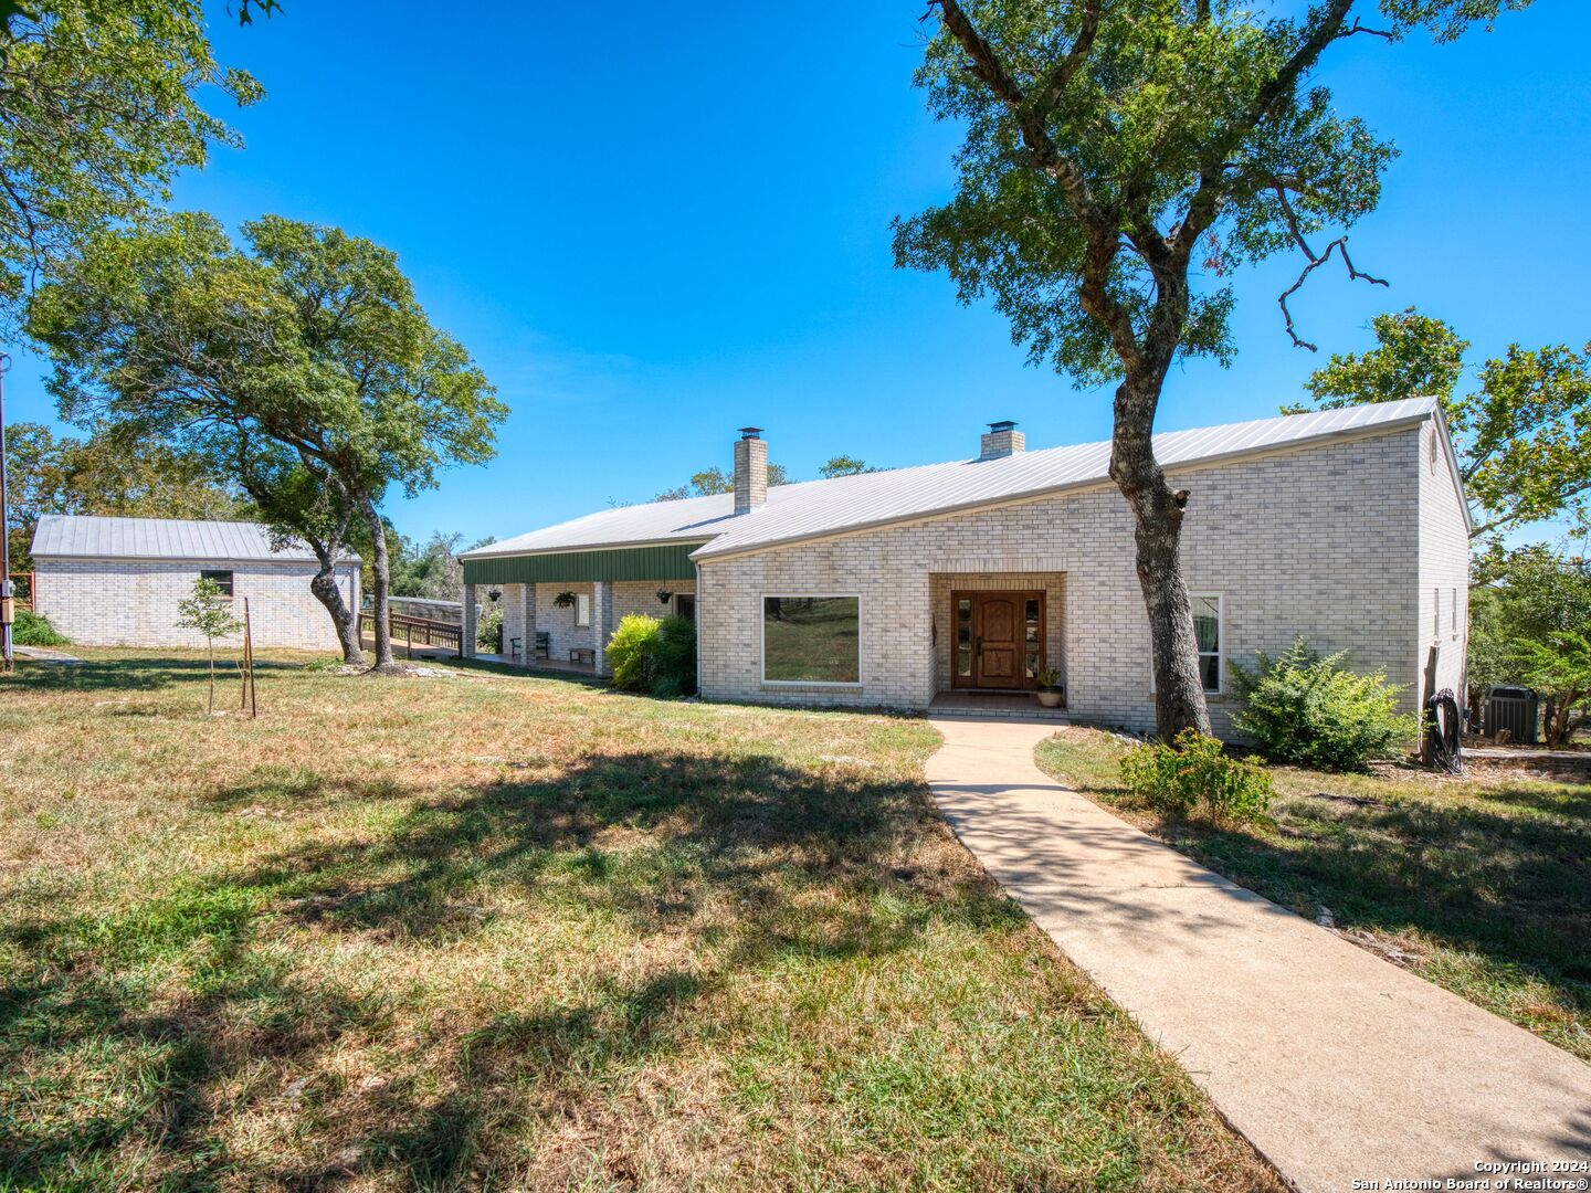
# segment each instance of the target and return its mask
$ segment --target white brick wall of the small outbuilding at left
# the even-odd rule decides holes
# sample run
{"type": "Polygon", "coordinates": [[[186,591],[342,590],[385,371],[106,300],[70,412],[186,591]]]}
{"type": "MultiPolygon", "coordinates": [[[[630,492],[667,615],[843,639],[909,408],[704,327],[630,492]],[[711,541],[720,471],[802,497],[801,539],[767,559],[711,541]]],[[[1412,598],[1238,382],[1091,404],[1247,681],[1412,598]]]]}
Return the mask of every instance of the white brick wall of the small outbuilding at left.
{"type": "MultiPolygon", "coordinates": [[[[313,563],[45,558],[33,566],[38,611],[81,646],[202,647],[202,636],[175,627],[177,603],[193,595],[200,569],[231,569],[234,616],[242,620],[247,596],[255,646],[339,649],[326,608],[309,590],[313,563]]],[[[339,569],[347,601],[356,600],[356,573],[355,565],[339,569]]]]}

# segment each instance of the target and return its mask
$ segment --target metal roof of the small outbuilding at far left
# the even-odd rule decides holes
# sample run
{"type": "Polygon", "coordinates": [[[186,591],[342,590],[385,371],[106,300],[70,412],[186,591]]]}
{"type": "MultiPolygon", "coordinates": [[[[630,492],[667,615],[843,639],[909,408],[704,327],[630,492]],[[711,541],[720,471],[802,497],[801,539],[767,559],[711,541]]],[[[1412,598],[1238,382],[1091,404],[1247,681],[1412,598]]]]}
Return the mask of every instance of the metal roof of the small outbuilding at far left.
{"type": "MultiPolygon", "coordinates": [[[[313,563],[315,552],[298,539],[272,550],[270,530],[255,522],[45,514],[33,531],[33,558],[313,563]]],[[[360,557],[344,552],[339,562],[360,557]]]]}

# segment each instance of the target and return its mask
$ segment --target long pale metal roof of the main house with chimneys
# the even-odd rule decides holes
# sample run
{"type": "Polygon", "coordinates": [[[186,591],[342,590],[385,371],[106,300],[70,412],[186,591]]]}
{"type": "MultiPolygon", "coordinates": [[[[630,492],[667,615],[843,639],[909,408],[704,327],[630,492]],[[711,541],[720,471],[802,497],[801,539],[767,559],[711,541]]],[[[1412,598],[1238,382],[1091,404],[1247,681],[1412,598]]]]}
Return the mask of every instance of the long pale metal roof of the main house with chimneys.
{"type": "MultiPolygon", "coordinates": [[[[1185,468],[1298,447],[1317,439],[1392,429],[1400,423],[1429,418],[1435,410],[1433,398],[1410,398],[1192,431],[1166,431],[1155,436],[1155,457],[1168,469],[1185,468]]],[[[1111,442],[1104,441],[1015,452],[993,460],[956,460],[775,485],[768,488],[767,504],[749,514],[735,514],[735,498],[730,493],[620,506],[492,542],[465,552],[461,558],[695,541],[705,546],[698,547],[694,557],[705,560],[778,542],[1098,484],[1109,479],[1106,471],[1109,463],[1111,442]]]]}

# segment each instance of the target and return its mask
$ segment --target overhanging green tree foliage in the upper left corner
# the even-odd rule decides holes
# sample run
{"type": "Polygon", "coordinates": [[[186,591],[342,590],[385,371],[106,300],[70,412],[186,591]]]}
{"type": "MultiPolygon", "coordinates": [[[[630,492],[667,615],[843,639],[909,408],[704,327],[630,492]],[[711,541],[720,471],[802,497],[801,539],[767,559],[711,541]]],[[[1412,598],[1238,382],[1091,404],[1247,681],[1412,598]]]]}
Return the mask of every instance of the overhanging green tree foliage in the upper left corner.
{"type": "Polygon", "coordinates": [[[35,274],[49,277],[94,231],[170,199],[210,145],[240,143],[196,100],[261,97],[212,54],[196,0],[37,0],[0,32],[0,329],[35,274]]]}

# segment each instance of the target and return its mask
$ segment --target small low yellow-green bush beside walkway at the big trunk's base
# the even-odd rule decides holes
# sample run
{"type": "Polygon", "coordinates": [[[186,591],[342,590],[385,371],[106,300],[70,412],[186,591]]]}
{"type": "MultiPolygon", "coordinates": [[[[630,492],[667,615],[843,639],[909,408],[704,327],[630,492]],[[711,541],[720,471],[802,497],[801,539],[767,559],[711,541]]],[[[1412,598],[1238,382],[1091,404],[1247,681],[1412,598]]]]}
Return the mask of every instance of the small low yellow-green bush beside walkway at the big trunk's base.
{"type": "Polygon", "coordinates": [[[1270,806],[1271,776],[1252,759],[1233,759],[1196,729],[1174,744],[1150,741],[1122,759],[1122,781],[1165,816],[1203,811],[1214,819],[1252,821],[1270,806]]]}

